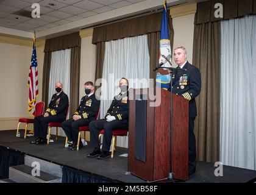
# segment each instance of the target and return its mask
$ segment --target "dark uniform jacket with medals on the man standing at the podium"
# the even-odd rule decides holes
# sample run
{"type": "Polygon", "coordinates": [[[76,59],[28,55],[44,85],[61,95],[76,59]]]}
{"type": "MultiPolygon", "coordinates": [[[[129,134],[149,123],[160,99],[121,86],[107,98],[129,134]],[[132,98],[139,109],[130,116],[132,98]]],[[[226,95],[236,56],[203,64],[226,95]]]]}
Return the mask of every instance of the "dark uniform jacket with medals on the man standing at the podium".
{"type": "Polygon", "coordinates": [[[182,70],[174,71],[172,76],[172,93],[189,101],[189,117],[196,117],[196,101],[194,98],[201,91],[201,74],[196,66],[185,63],[182,70]],[[187,71],[183,70],[187,69],[187,71]]]}

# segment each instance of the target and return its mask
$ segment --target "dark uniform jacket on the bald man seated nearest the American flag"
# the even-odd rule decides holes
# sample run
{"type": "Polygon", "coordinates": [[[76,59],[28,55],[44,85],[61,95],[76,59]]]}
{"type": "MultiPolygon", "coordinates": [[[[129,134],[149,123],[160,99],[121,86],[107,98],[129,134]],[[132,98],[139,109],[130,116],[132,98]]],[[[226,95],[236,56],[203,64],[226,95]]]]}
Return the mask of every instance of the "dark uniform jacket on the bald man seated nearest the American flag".
{"type": "Polygon", "coordinates": [[[59,96],[57,93],[53,94],[51,102],[49,103],[46,112],[49,116],[63,115],[66,117],[66,108],[68,107],[68,96],[62,91],[59,96]]]}

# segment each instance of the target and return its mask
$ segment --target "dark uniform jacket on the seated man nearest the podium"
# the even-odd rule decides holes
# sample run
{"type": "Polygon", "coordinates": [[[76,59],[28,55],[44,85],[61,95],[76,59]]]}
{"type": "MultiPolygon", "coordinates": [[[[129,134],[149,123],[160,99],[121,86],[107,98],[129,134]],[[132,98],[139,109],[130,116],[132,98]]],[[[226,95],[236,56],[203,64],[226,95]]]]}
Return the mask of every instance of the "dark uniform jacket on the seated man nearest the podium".
{"type": "Polygon", "coordinates": [[[115,116],[116,120],[119,120],[123,123],[128,124],[128,118],[129,118],[129,92],[118,94],[114,97],[112,104],[107,110],[107,114],[105,115],[105,118],[108,115],[115,116]]]}

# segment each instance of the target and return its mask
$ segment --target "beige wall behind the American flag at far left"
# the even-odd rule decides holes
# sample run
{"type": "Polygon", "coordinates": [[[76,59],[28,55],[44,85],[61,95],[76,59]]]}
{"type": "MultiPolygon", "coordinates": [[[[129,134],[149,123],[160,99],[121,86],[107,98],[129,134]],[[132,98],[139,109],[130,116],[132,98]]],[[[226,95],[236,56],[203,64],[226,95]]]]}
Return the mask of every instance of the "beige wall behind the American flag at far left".
{"type": "MultiPolygon", "coordinates": [[[[30,117],[26,110],[29,94],[27,79],[32,55],[32,41],[27,42],[31,42],[31,45],[0,43],[0,130],[16,129],[18,118],[30,117]]],[[[43,47],[37,48],[38,101],[41,101],[43,56],[43,47]]]]}

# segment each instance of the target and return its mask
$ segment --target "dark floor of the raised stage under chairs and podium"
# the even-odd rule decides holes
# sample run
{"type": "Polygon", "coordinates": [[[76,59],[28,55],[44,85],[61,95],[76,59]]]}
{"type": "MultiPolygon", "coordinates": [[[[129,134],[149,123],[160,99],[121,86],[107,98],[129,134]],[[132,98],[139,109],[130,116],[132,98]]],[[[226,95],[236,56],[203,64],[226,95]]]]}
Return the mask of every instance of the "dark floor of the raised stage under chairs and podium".
{"type": "MultiPolygon", "coordinates": [[[[0,146],[9,149],[23,152],[23,154],[40,158],[41,160],[50,161],[60,166],[69,166],[79,171],[85,171],[91,175],[107,178],[113,182],[126,183],[145,183],[132,174],[127,174],[128,157],[120,157],[119,155],[127,154],[128,149],[117,147],[114,152],[114,158],[98,160],[96,158],[88,158],[86,154],[91,151],[89,146],[84,146],[79,151],[69,151],[64,147],[65,138],[58,137],[54,143],[35,145],[29,142],[34,140],[34,137],[23,138],[24,130],[21,130],[21,137],[16,138],[16,130],[1,130],[0,131],[0,146]]],[[[213,163],[202,161],[197,162],[196,173],[184,183],[246,183],[256,182],[256,171],[249,169],[235,168],[232,166],[223,166],[223,176],[216,177],[216,167],[213,163]]],[[[165,181],[168,182],[168,181],[165,181]]],[[[174,181],[181,182],[181,181],[174,181]]]]}

